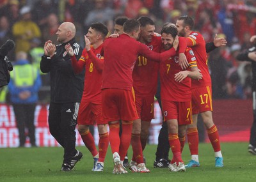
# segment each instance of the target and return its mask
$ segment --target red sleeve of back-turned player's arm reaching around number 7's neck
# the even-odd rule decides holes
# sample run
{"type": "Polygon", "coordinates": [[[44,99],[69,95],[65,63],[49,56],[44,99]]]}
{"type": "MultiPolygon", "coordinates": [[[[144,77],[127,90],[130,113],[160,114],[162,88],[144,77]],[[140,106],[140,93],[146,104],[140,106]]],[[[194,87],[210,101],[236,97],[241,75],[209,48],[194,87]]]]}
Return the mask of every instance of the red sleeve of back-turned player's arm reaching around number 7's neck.
{"type": "Polygon", "coordinates": [[[172,49],[166,50],[165,52],[162,52],[159,54],[158,52],[154,52],[150,49],[148,49],[147,45],[140,43],[139,45],[139,53],[147,57],[148,59],[152,59],[152,61],[164,61],[168,59],[169,57],[175,56],[176,50],[172,47],[172,49]]]}

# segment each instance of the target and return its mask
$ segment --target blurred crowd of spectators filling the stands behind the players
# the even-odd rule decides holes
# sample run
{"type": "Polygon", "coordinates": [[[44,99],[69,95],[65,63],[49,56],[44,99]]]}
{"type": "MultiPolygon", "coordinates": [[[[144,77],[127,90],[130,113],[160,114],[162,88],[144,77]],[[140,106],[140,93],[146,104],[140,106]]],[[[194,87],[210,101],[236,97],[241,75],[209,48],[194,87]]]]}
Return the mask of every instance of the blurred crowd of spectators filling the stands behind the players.
{"type": "MultiPolygon", "coordinates": [[[[195,20],[195,29],[205,42],[216,33],[224,36],[227,47],[220,47],[208,57],[213,98],[250,98],[252,96],[250,63],[237,62],[236,55],[252,47],[256,34],[255,0],[0,0],[0,45],[8,39],[16,43],[8,55],[19,59],[18,52],[28,54],[28,61],[38,69],[47,40],[56,42],[61,22],[76,25],[76,40],[84,45],[83,35],[92,22],[102,22],[113,33],[114,20],[120,15],[137,19],[146,15],[154,20],[159,33],[165,22],[175,23],[180,15],[195,20]]],[[[49,75],[40,73],[40,102],[49,102],[49,75]]]]}

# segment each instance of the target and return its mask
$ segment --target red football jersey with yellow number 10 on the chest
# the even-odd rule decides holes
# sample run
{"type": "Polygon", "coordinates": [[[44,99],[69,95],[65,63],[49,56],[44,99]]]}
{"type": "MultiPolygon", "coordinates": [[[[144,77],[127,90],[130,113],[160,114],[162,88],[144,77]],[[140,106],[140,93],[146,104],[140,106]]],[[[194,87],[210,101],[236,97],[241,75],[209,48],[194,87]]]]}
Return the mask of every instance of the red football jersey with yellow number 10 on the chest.
{"type": "MultiPolygon", "coordinates": [[[[152,41],[146,43],[150,50],[160,52],[161,36],[152,36],[152,41]]],[[[133,87],[135,95],[154,96],[156,95],[157,74],[159,63],[150,61],[144,56],[138,56],[132,72],[133,87]]]]}

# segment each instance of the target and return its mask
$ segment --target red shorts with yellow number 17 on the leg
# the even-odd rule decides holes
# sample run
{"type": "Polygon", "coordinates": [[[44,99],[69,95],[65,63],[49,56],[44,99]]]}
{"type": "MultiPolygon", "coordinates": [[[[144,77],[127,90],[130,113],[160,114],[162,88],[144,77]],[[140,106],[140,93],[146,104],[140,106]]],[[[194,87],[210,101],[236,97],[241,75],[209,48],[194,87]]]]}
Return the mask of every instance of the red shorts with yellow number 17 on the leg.
{"type": "Polygon", "coordinates": [[[212,87],[198,87],[192,89],[192,113],[199,114],[212,111],[212,87]]]}

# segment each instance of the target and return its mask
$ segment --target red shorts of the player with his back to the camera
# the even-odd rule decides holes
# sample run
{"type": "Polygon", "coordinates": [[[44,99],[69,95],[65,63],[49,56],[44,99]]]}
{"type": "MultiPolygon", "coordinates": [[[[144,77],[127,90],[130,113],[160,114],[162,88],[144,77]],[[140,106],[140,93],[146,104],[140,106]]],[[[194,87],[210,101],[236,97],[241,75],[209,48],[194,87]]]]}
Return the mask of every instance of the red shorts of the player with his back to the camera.
{"type": "Polygon", "coordinates": [[[134,91],[124,89],[102,90],[102,116],[104,121],[133,121],[138,119],[134,91]]]}

